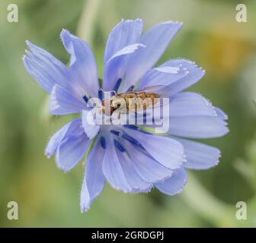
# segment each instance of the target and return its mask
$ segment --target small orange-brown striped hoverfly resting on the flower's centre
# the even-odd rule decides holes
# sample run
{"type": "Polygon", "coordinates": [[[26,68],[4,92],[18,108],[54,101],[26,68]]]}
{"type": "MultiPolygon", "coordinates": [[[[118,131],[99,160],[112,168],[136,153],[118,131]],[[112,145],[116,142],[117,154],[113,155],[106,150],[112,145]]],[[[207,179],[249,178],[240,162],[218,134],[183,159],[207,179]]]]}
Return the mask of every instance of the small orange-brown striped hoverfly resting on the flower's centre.
{"type": "Polygon", "coordinates": [[[116,109],[119,109],[120,113],[128,113],[161,106],[159,98],[168,98],[170,88],[156,85],[126,93],[117,93],[115,90],[111,92],[114,95],[110,99],[103,99],[101,103],[101,109],[107,116],[112,115],[116,109]]]}

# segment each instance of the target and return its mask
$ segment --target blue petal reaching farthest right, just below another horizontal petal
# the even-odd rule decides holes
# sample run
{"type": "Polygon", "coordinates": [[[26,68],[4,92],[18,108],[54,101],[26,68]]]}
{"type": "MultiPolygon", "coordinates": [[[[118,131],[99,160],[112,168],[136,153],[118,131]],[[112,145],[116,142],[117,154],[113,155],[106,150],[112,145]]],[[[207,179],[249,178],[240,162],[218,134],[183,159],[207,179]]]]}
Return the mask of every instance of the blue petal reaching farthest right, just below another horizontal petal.
{"type": "Polygon", "coordinates": [[[219,117],[201,115],[170,117],[168,133],[190,138],[222,137],[229,132],[226,125],[226,122],[219,117]]]}

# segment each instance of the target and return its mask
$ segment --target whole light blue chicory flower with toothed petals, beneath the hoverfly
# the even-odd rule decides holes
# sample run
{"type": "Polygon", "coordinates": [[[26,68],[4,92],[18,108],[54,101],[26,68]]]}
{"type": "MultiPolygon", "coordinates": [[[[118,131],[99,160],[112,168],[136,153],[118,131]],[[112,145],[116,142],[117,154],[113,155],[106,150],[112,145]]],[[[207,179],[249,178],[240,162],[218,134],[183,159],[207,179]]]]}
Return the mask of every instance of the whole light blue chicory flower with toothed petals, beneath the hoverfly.
{"type": "Polygon", "coordinates": [[[62,30],[62,43],[70,55],[67,68],[49,52],[27,41],[30,50],[24,56],[24,66],[50,93],[50,113],[81,114],[81,118],[75,118],[50,138],[46,156],[55,154],[57,166],[67,172],[82,160],[94,140],[85,165],[82,212],[90,208],[105,181],[128,193],[148,192],[155,187],[174,195],[184,188],[186,169],[209,169],[219,162],[218,149],[187,140],[221,137],[228,132],[227,116],[222,110],[200,94],[184,91],[197,83],[205,71],[182,58],[152,68],[181,26],[178,22],[165,22],[142,35],[142,20],[121,21],[110,32],[104,51],[104,91],[126,92],[134,86],[169,87],[168,136],[146,133],[136,125],[89,125],[86,103],[90,97],[102,98],[89,46],[62,30]]]}

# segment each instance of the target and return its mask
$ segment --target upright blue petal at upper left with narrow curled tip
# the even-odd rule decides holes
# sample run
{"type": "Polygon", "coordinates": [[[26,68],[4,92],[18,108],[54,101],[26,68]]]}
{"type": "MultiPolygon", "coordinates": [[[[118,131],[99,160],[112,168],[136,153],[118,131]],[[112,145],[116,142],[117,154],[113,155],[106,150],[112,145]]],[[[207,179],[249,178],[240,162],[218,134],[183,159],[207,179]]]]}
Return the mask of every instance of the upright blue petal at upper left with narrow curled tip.
{"type": "Polygon", "coordinates": [[[72,87],[78,86],[75,93],[81,97],[85,94],[98,96],[98,74],[90,47],[68,30],[62,30],[61,38],[67,52],[71,55],[69,73],[72,78],[72,87]]]}

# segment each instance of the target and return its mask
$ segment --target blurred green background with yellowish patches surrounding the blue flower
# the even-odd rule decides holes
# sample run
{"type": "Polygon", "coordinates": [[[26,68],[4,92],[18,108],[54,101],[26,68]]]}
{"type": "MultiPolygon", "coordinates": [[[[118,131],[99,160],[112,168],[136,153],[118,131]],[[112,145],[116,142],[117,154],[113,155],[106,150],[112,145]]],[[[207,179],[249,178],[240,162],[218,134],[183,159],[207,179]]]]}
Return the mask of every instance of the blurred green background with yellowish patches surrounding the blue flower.
{"type": "Polygon", "coordinates": [[[237,1],[210,0],[1,0],[0,2],[0,226],[2,227],[255,227],[256,226],[256,1],[248,22],[235,21],[237,1]],[[7,6],[19,8],[8,23],[7,6]],[[219,166],[189,173],[175,197],[152,190],[124,194],[107,185],[88,213],[80,213],[82,163],[68,174],[43,155],[51,134],[69,120],[47,113],[46,93],[24,69],[25,39],[69,61],[59,38],[62,28],[85,39],[102,76],[104,44],[120,19],[141,17],[145,29],[158,22],[184,27],[160,62],[189,58],[206,69],[190,90],[208,97],[229,115],[226,137],[207,140],[219,147],[219,166]],[[8,220],[8,201],[17,201],[18,220],[8,220]],[[247,220],[235,218],[238,201],[247,220]]]}

